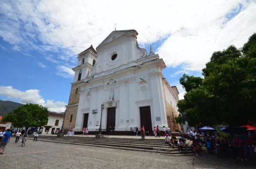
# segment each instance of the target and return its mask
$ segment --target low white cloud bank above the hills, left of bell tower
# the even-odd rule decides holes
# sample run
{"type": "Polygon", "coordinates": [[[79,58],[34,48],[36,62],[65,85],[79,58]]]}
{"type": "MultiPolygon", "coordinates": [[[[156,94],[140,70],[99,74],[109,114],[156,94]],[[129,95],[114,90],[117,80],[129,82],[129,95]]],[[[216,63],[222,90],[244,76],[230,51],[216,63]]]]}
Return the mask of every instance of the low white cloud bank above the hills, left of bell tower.
{"type": "Polygon", "coordinates": [[[64,102],[54,102],[54,100],[45,101],[40,95],[40,91],[37,89],[29,89],[26,91],[20,91],[18,89],[13,89],[12,86],[0,86],[0,95],[6,96],[12,99],[20,100],[20,103],[33,103],[45,106],[51,112],[64,112],[65,105],[64,102]]]}

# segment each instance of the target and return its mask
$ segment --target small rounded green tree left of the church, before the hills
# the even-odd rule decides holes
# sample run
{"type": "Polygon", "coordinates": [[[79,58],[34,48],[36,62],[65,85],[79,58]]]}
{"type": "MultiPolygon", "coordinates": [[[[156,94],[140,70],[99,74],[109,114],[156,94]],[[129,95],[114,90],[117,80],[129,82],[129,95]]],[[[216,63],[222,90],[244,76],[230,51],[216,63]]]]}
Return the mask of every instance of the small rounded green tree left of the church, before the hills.
{"type": "Polygon", "coordinates": [[[41,127],[48,122],[48,110],[38,104],[26,104],[3,116],[3,122],[12,122],[15,127],[41,127]]]}

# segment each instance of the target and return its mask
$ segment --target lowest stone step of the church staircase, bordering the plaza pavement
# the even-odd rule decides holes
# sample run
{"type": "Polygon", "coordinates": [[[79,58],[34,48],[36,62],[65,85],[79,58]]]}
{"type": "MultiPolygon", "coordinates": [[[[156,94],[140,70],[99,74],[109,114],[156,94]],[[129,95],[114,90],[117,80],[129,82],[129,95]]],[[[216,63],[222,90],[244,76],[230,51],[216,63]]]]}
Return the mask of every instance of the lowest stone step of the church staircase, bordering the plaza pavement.
{"type": "MultiPolygon", "coordinates": [[[[32,138],[29,138],[32,139],[32,138]]],[[[39,140],[39,139],[38,139],[39,140]]],[[[163,155],[171,155],[171,156],[182,156],[182,155],[195,155],[191,152],[166,152],[166,151],[158,151],[156,149],[149,150],[149,149],[136,149],[136,148],[127,148],[127,147],[120,147],[120,146],[106,146],[106,145],[95,145],[95,144],[86,144],[86,143],[72,143],[72,142],[63,142],[63,141],[54,141],[54,140],[44,140],[40,139],[41,141],[48,141],[48,142],[54,142],[54,143],[65,143],[65,144],[74,144],[74,145],[84,145],[84,146],[97,146],[97,147],[105,147],[105,148],[111,148],[111,149],[122,149],[122,150],[128,150],[128,151],[139,151],[139,152],[149,152],[149,153],[157,153],[157,154],[163,154],[163,155]]]]}

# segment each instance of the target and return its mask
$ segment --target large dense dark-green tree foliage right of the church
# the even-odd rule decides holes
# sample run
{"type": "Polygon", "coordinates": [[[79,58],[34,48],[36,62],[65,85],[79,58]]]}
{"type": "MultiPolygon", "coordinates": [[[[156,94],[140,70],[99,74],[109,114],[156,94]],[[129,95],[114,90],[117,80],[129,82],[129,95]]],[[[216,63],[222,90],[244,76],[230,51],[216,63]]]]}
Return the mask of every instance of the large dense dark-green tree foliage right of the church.
{"type": "Polygon", "coordinates": [[[186,112],[189,126],[240,126],[256,120],[256,34],[241,49],[214,52],[202,72],[204,78],[180,78],[186,94],[177,106],[186,112]]]}

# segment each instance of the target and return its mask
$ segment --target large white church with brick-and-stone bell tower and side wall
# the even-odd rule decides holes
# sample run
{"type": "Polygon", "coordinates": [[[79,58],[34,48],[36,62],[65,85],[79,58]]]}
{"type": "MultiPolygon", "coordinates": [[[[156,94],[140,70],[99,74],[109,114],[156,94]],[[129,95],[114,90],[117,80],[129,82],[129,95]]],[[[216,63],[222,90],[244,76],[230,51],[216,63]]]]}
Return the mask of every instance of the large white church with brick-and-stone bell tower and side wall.
{"type": "Polygon", "coordinates": [[[113,31],[102,43],[78,54],[78,66],[71,87],[64,128],[81,132],[99,129],[102,110],[102,129],[115,133],[130,131],[144,125],[170,126],[175,123],[178,91],[163,77],[165,63],[138,46],[136,30],[113,31]]]}

